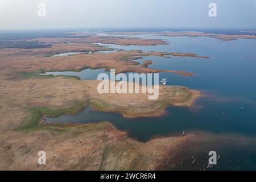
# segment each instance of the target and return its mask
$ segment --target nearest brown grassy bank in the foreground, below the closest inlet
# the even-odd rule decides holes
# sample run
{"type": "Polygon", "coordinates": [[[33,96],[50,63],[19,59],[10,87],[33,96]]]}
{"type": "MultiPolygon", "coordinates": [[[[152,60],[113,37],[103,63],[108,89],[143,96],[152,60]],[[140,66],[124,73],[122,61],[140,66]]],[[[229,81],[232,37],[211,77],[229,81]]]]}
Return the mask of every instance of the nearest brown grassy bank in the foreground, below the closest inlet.
{"type": "MultiPolygon", "coordinates": [[[[200,153],[205,145],[210,144],[210,147],[204,148],[208,152],[214,146],[225,146],[227,142],[241,147],[255,144],[255,138],[195,131],[184,137],[179,134],[144,143],[127,137],[127,133],[115,129],[109,122],[44,124],[42,130],[29,133],[9,130],[0,135],[1,170],[200,169],[193,166],[189,158],[200,153]],[[39,166],[38,152],[41,150],[46,151],[46,165],[39,166]],[[180,156],[181,152],[185,152],[187,159],[180,156]]],[[[208,156],[201,155],[205,158],[202,167],[206,168],[208,156]]],[[[195,165],[199,157],[195,156],[195,165]]]]}

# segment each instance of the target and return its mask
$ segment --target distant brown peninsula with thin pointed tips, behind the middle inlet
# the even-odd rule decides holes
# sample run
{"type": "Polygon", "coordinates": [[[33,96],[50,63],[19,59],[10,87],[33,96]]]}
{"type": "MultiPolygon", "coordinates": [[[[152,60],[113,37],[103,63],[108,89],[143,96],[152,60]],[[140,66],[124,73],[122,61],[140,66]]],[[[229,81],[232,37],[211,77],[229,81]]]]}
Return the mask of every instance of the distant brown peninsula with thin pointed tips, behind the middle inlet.
{"type": "MultiPolygon", "coordinates": [[[[68,44],[69,46],[70,44],[68,44]]],[[[72,49],[73,46],[71,46],[72,49]]],[[[65,49],[68,49],[65,48],[65,49]]],[[[99,47],[86,47],[89,51],[94,49],[100,49],[99,47]]],[[[58,52],[60,49],[56,46],[51,49],[52,52],[58,52]],[[56,48],[56,49],[55,49],[56,48]]],[[[70,50],[70,49],[69,49],[70,50]]],[[[72,49],[73,50],[73,49],[72,49]]],[[[137,56],[164,56],[164,55],[174,55],[174,56],[192,56],[192,57],[204,57],[197,56],[193,53],[167,53],[167,52],[141,52],[141,51],[121,51],[121,52],[111,52],[111,53],[91,53],[85,54],[80,53],[73,56],[55,56],[46,57],[45,55],[49,52],[48,48],[42,49],[0,49],[1,54],[1,71],[35,71],[38,69],[43,69],[43,71],[80,71],[84,68],[115,68],[116,73],[121,72],[138,72],[138,73],[156,73],[156,72],[174,72],[185,76],[192,76],[193,73],[186,71],[172,71],[163,69],[154,69],[144,67],[140,65],[137,61],[132,59],[137,59],[137,56]],[[43,53],[43,51],[45,51],[43,53]]],[[[77,50],[76,51],[81,51],[77,50]]],[[[75,51],[75,52],[76,52],[75,51]]],[[[168,60],[167,60],[168,61],[168,60]]],[[[8,71],[8,72],[9,72],[8,71]]],[[[11,73],[13,73],[11,72],[11,73]]]]}

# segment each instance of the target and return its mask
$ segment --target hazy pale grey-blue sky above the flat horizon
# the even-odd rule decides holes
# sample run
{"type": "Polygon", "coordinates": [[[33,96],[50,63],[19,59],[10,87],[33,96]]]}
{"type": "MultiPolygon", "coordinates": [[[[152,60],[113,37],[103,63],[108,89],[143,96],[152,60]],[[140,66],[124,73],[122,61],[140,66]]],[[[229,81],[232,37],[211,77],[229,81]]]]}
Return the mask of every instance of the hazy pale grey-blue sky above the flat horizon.
{"type": "Polygon", "coordinates": [[[0,0],[2,30],[99,27],[256,28],[256,0],[0,0]],[[217,17],[208,15],[211,2],[217,17]]]}

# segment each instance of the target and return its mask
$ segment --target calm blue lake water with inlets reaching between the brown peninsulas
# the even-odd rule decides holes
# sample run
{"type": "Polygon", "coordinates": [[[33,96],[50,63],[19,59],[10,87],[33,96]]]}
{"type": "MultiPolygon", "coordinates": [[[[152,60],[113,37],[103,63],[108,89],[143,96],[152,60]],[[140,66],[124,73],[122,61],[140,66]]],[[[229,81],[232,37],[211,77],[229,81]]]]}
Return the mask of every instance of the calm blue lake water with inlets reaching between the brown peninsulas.
{"type": "MultiPolygon", "coordinates": [[[[195,76],[187,77],[164,72],[159,74],[159,78],[167,78],[168,85],[181,85],[201,90],[204,97],[197,100],[192,107],[169,106],[167,114],[158,118],[129,119],[123,118],[118,113],[100,113],[88,107],[77,115],[63,115],[59,118],[48,118],[47,121],[78,123],[110,121],[118,129],[128,131],[130,137],[142,141],[156,136],[180,134],[183,130],[256,137],[256,40],[239,39],[226,42],[208,37],[170,38],[148,34],[134,37],[164,39],[170,44],[158,46],[100,45],[120,47],[127,51],[139,49],[144,52],[193,52],[202,56],[210,56],[209,59],[146,56],[135,60],[139,63],[143,60],[152,60],[152,64],[149,65],[151,68],[196,73],[195,76]]],[[[86,80],[96,79],[97,74],[103,71],[103,69],[86,69],[80,73],[61,72],[55,75],[73,75],[86,80]]],[[[216,150],[221,154],[222,160],[220,165],[214,169],[256,169],[255,145],[246,147],[240,147],[239,144],[222,145],[216,150]]],[[[207,147],[201,147],[201,151],[195,156],[202,159],[206,158],[205,154],[207,154],[207,147]]],[[[187,158],[191,158],[190,153],[187,158]]],[[[204,162],[198,163],[196,167],[188,165],[183,169],[203,169],[204,162]]]]}

